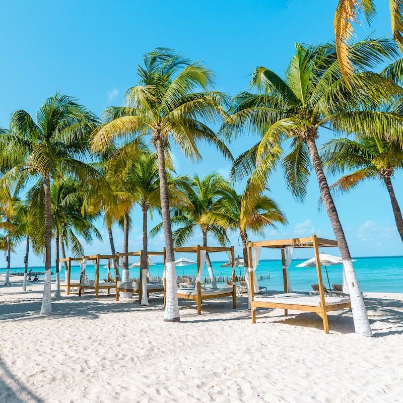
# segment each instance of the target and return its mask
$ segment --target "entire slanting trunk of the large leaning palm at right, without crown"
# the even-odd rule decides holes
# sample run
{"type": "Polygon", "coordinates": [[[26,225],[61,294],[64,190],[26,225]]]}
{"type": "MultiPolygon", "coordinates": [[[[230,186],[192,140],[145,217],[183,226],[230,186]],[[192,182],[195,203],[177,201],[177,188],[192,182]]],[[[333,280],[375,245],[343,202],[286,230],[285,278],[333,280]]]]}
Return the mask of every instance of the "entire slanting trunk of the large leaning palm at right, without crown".
{"type": "Polygon", "coordinates": [[[326,176],[322,169],[322,163],[320,161],[319,153],[315,143],[315,137],[309,134],[306,137],[306,142],[311,155],[313,167],[316,172],[316,177],[319,184],[320,196],[323,201],[323,205],[326,209],[326,213],[330,219],[331,226],[334,231],[334,235],[339,244],[340,254],[343,259],[344,270],[349,288],[351,307],[353,311],[354,327],[356,333],[362,334],[367,337],[372,336],[372,330],[369,325],[367,311],[365,309],[364,300],[361,294],[360,286],[356,273],[354,271],[353,262],[351,260],[350,250],[347,245],[346,236],[343,231],[342,224],[339,219],[338,212],[334,205],[333,198],[331,197],[329,185],[327,183],[326,176]]]}

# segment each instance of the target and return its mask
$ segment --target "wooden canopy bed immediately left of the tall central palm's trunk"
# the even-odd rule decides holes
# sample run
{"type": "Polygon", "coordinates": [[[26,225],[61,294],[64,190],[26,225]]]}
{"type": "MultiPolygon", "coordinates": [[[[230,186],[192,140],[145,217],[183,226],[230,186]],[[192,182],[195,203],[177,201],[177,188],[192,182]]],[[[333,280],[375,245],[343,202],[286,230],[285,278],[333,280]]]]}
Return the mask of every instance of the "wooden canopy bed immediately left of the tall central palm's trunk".
{"type": "MultiPolygon", "coordinates": [[[[119,261],[120,257],[123,256],[139,256],[140,262],[143,262],[145,259],[145,253],[143,250],[137,252],[125,252],[125,253],[116,253],[117,261],[119,261]]],[[[165,264],[165,248],[163,252],[147,252],[148,256],[163,256],[163,261],[165,264]]],[[[147,259],[147,269],[148,269],[148,259],[147,259]]],[[[122,282],[116,281],[116,301],[119,301],[119,293],[126,292],[126,293],[135,293],[139,295],[139,304],[142,301],[142,294],[143,294],[143,276],[142,276],[142,264],[139,266],[139,282],[136,284],[135,282],[122,282]]],[[[150,293],[164,293],[164,306],[165,306],[165,279],[163,279],[162,284],[155,284],[149,283],[147,278],[147,298],[150,293]]]]}

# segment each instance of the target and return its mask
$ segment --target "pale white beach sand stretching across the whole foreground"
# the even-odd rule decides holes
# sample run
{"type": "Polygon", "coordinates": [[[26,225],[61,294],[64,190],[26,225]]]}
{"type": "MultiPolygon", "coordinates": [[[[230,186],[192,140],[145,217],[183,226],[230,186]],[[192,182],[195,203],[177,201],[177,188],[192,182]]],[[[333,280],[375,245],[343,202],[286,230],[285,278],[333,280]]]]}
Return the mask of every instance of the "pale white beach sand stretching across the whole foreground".
{"type": "Polygon", "coordinates": [[[1,402],[403,401],[403,294],[365,294],[364,338],[347,310],[327,335],[314,313],[261,309],[253,325],[244,297],[201,315],[179,300],[181,322],[165,323],[162,297],[62,292],[41,316],[43,285],[19,282],[0,288],[1,402]]]}

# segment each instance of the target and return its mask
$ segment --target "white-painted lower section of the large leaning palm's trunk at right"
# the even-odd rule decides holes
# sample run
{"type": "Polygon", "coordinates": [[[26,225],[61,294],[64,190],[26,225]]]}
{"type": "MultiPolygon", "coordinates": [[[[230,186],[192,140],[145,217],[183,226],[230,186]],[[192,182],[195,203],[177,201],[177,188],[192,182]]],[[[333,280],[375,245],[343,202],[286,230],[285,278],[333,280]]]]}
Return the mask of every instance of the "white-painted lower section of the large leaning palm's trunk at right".
{"type": "Polygon", "coordinates": [[[351,260],[343,260],[343,265],[350,294],[356,333],[371,337],[372,331],[369,325],[364,301],[362,299],[360,286],[358,285],[356,272],[354,271],[353,262],[351,260]]]}

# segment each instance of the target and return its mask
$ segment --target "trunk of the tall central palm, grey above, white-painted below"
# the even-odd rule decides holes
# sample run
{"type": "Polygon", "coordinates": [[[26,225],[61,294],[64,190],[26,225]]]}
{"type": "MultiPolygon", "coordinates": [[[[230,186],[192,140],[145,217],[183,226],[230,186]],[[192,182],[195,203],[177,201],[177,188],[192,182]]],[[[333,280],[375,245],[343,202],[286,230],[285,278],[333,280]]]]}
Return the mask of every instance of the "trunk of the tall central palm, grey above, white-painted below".
{"type": "Polygon", "coordinates": [[[158,174],[160,178],[160,198],[162,225],[164,227],[165,251],[166,251],[166,305],[164,320],[169,322],[179,322],[179,305],[176,285],[175,255],[173,252],[173,239],[171,218],[169,216],[168,180],[165,167],[164,144],[160,138],[160,133],[155,133],[154,144],[157,149],[158,174]]]}

